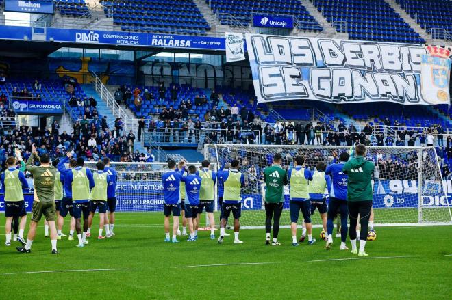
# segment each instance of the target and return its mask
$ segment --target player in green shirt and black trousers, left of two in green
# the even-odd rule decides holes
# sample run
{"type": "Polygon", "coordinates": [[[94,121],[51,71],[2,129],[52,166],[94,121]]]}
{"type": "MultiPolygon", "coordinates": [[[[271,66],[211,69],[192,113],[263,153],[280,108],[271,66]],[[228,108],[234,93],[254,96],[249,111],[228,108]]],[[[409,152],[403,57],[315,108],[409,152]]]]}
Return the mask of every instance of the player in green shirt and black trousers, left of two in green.
{"type": "Polygon", "coordinates": [[[273,219],[273,242],[271,245],[281,245],[278,243],[279,219],[284,204],[284,185],[288,185],[287,172],[281,167],[282,155],[280,153],[273,156],[273,165],[264,170],[265,191],[265,245],[270,244],[271,219],[273,219]]]}

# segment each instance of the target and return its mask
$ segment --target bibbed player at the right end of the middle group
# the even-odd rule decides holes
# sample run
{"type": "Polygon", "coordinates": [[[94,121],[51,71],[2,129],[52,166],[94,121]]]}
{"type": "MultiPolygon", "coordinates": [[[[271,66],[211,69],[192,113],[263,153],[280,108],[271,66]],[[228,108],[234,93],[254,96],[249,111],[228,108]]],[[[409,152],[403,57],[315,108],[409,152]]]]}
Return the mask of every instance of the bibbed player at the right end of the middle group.
{"type": "Polygon", "coordinates": [[[231,161],[231,169],[229,172],[224,172],[221,174],[221,184],[225,189],[223,194],[223,219],[221,219],[220,224],[220,237],[218,238],[218,244],[223,243],[223,238],[225,238],[225,227],[229,215],[234,217],[234,244],[243,243],[238,239],[238,233],[240,231],[240,215],[242,213],[242,197],[240,197],[240,191],[244,187],[244,176],[242,173],[238,172],[238,160],[233,159],[231,161]]]}

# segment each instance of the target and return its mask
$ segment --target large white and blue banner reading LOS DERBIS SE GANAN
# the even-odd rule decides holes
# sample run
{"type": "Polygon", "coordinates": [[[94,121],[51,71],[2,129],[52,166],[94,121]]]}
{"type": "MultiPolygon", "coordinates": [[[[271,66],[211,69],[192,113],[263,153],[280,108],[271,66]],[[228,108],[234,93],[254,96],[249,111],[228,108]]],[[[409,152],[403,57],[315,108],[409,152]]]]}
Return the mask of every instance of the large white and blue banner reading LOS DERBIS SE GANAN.
{"type": "Polygon", "coordinates": [[[259,103],[449,104],[450,51],[328,38],[246,35],[259,103]]]}

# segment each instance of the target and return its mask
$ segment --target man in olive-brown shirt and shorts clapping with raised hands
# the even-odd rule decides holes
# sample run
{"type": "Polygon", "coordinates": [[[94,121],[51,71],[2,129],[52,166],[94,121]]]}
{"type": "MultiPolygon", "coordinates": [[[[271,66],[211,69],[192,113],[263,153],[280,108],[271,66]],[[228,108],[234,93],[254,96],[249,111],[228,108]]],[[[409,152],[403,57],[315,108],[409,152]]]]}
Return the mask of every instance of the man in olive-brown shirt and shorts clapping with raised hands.
{"type": "Polygon", "coordinates": [[[23,247],[17,247],[17,251],[21,253],[30,253],[34,236],[36,235],[36,227],[44,215],[49,223],[50,239],[52,244],[52,254],[58,254],[57,250],[57,232],[55,226],[55,174],[56,169],[50,165],[50,156],[45,153],[41,157],[38,156],[36,147],[32,146],[32,155],[27,160],[27,171],[33,175],[34,201],[32,208],[32,221],[27,236],[27,243],[23,247]],[[40,166],[33,164],[34,160],[40,162],[40,166]]]}

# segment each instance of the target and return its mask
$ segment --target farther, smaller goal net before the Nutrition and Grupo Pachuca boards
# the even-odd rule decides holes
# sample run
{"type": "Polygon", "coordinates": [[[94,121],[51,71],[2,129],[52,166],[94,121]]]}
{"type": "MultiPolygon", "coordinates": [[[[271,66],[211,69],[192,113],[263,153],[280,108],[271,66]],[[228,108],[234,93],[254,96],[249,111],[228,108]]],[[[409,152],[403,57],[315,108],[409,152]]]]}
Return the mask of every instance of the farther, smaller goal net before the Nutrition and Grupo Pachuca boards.
{"type": "MultiPolygon", "coordinates": [[[[179,163],[177,161],[177,163],[179,163]]],[[[198,169],[201,163],[187,163],[198,169]]],[[[86,162],[85,167],[96,170],[95,162],[86,162]]],[[[115,169],[116,211],[119,212],[161,212],[163,211],[162,175],[168,172],[168,163],[110,163],[115,169]]],[[[216,164],[210,165],[216,170],[216,164]]]]}

